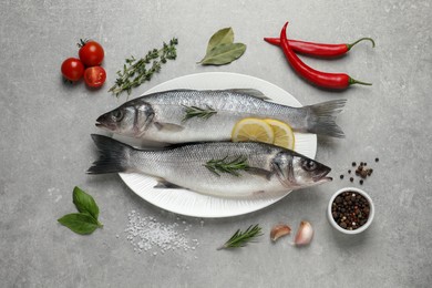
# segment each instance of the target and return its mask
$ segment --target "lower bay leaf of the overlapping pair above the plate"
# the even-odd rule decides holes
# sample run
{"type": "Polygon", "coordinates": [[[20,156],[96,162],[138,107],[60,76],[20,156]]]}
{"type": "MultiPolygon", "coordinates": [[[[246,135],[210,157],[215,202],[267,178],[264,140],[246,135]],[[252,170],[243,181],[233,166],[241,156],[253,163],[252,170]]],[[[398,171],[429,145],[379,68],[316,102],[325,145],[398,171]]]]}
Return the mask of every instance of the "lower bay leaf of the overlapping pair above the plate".
{"type": "Polygon", "coordinates": [[[246,51],[243,43],[219,44],[212,49],[200,63],[203,65],[225,65],[238,59],[246,51]]]}

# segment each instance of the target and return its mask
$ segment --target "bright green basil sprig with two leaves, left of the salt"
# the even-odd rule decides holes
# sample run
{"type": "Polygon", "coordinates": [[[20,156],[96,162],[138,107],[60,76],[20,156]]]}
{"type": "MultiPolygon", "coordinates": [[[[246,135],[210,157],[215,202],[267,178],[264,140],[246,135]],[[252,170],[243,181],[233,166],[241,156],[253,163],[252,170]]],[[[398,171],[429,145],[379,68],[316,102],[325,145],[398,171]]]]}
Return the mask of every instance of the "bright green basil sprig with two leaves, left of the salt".
{"type": "Polygon", "coordinates": [[[74,187],[72,199],[80,213],[64,215],[58,219],[60,224],[81,235],[92,234],[96,228],[103,227],[97,220],[99,207],[92,196],[74,187]]]}

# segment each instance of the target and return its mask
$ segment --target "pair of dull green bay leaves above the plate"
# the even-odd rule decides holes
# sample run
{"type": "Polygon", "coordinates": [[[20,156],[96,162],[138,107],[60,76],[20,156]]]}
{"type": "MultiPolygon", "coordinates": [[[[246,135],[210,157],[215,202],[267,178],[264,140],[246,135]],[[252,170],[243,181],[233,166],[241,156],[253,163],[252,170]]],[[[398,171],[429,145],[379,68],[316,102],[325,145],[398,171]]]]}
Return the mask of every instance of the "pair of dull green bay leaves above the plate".
{"type": "Polygon", "coordinates": [[[234,43],[234,31],[224,28],[214,33],[208,41],[206,55],[199,64],[225,65],[240,58],[246,51],[244,43],[234,43]]]}

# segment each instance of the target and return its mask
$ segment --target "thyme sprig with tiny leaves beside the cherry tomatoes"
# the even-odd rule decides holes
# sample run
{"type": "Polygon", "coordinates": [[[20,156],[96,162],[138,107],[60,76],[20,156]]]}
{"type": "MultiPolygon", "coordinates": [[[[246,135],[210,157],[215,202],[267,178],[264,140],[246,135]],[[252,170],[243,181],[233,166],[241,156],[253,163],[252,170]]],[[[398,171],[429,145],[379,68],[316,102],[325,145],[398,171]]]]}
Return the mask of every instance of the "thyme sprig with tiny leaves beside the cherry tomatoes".
{"type": "Polygon", "coordinates": [[[145,58],[137,60],[131,55],[131,58],[125,60],[126,63],[123,65],[123,71],[117,71],[119,78],[109,92],[112,92],[117,97],[124,91],[130,95],[133,88],[140,86],[145,81],[150,81],[154,73],[158,73],[162,64],[165,64],[167,60],[175,60],[177,58],[175,48],[177,44],[178,40],[173,38],[169,44],[164,42],[162,49],[148,51],[145,58]],[[151,68],[147,68],[147,64],[152,64],[151,68]]]}

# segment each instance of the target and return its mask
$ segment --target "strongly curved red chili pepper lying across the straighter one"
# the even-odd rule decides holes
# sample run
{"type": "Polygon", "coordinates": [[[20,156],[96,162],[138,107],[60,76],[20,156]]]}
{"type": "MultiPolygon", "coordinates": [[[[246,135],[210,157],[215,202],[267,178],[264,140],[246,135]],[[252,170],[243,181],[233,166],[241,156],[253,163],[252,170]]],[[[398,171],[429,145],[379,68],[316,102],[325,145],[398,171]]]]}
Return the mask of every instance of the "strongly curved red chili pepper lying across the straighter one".
{"type": "Polygon", "coordinates": [[[306,80],[317,86],[327,89],[347,89],[352,84],[372,85],[370,83],[357,81],[344,73],[327,73],[308,66],[290,48],[287,40],[287,25],[288,22],[285,23],[282,30],[280,31],[280,47],[282,48],[284,54],[292,69],[306,80]]]}

